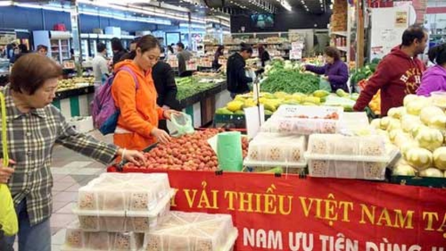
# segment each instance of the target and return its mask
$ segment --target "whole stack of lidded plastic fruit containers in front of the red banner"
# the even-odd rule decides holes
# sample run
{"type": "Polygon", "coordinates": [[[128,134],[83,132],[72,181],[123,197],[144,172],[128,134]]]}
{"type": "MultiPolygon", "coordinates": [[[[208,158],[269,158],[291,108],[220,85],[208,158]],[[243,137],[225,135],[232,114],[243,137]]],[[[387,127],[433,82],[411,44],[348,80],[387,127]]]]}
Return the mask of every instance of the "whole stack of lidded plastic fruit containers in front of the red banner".
{"type": "Polygon", "coordinates": [[[62,250],[220,250],[235,236],[232,247],[231,216],[170,212],[173,195],[166,173],[103,173],[79,189],[62,250]]]}

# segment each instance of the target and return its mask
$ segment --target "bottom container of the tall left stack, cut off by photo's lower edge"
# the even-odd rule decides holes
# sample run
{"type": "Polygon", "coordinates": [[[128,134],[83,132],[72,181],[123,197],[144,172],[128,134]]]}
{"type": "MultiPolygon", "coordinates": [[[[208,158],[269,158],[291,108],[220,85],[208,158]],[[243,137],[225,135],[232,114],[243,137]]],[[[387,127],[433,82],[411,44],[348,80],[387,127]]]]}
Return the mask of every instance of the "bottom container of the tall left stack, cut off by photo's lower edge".
{"type": "Polygon", "coordinates": [[[121,232],[86,232],[82,230],[79,222],[71,223],[65,234],[65,243],[61,250],[120,250],[139,251],[142,248],[144,234],[121,232]]]}

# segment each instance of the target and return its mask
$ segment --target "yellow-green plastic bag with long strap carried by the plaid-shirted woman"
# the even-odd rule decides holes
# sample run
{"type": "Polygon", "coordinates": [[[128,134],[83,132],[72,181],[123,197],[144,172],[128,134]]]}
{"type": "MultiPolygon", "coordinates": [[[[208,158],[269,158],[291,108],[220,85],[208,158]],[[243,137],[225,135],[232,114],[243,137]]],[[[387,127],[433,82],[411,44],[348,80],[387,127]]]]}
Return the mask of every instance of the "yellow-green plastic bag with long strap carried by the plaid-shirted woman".
{"type": "MultiPolygon", "coordinates": [[[[6,132],[6,106],[5,96],[0,92],[0,105],[2,106],[2,150],[3,166],[9,165],[8,138],[6,132]]],[[[0,185],[0,225],[6,236],[13,236],[19,231],[17,214],[14,208],[11,192],[6,184],[0,185]]]]}

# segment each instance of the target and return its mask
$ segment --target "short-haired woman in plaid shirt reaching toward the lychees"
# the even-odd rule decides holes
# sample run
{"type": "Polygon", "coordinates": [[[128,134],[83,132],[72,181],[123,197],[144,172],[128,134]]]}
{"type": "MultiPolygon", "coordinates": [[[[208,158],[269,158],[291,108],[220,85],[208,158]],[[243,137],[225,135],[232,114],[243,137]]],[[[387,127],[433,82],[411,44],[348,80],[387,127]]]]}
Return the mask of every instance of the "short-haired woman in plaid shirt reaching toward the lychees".
{"type": "MultiPolygon", "coordinates": [[[[61,75],[61,66],[53,60],[29,53],[16,61],[11,83],[0,90],[5,94],[8,153],[14,165],[5,167],[0,161],[0,183],[9,185],[15,203],[19,251],[51,250],[51,156],[56,143],[103,164],[117,156],[144,162],[142,153],[100,142],[66,122],[51,104],[61,75]]],[[[7,238],[11,246],[14,240],[15,236],[7,238]]]]}

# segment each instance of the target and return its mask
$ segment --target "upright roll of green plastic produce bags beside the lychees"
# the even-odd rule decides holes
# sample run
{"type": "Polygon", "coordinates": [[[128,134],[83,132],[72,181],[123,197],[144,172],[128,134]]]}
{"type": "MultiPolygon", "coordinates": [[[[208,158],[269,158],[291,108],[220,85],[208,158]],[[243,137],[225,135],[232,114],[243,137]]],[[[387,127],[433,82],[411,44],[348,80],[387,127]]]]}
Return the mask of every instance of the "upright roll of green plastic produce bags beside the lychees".
{"type": "Polygon", "coordinates": [[[217,158],[220,169],[241,171],[243,169],[242,135],[240,132],[217,134],[217,158]]]}

